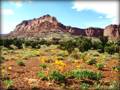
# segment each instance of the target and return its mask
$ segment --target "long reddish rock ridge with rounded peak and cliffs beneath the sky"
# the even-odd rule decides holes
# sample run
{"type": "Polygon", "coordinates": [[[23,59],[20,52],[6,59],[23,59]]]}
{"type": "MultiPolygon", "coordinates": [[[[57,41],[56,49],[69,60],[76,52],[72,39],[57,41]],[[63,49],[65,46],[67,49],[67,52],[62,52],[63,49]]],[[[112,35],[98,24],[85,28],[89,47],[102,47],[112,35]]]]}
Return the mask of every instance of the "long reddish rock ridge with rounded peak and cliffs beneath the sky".
{"type": "Polygon", "coordinates": [[[8,37],[27,38],[41,37],[45,33],[69,33],[72,35],[83,35],[89,37],[108,36],[110,39],[120,38],[120,26],[110,25],[104,29],[101,28],[86,28],[80,29],[71,26],[65,26],[57,21],[55,17],[44,15],[33,20],[25,20],[18,24],[15,30],[8,34],[8,37]]]}

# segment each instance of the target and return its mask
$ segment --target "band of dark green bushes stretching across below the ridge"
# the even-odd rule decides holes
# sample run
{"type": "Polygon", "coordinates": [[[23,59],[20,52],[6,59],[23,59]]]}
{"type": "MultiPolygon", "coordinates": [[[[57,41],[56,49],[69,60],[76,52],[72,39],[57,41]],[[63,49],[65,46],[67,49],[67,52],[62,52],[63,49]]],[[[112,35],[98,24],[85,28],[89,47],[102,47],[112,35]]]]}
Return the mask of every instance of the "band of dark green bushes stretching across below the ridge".
{"type": "Polygon", "coordinates": [[[108,42],[108,39],[106,37],[102,37],[98,40],[94,40],[91,38],[86,37],[72,37],[68,40],[62,40],[62,41],[48,41],[44,39],[0,39],[0,46],[7,47],[9,49],[23,48],[23,44],[26,47],[32,47],[32,48],[40,48],[41,45],[59,45],[60,49],[67,50],[69,53],[71,53],[74,48],[78,48],[79,51],[84,52],[88,51],[90,49],[97,49],[100,52],[108,52],[110,54],[113,53],[119,53],[120,52],[120,41],[114,41],[114,42],[108,42]],[[15,47],[11,47],[11,45],[15,47]]]}

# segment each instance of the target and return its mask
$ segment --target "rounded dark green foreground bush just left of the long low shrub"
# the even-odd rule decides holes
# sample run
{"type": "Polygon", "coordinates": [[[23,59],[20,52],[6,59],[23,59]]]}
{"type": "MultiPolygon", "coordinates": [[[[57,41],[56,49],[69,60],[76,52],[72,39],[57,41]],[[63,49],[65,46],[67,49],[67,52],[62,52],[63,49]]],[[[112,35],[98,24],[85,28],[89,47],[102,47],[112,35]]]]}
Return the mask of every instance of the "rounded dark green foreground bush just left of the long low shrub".
{"type": "Polygon", "coordinates": [[[62,75],[59,71],[53,71],[50,74],[50,79],[55,80],[55,81],[59,81],[59,82],[64,82],[65,76],[62,75]]]}

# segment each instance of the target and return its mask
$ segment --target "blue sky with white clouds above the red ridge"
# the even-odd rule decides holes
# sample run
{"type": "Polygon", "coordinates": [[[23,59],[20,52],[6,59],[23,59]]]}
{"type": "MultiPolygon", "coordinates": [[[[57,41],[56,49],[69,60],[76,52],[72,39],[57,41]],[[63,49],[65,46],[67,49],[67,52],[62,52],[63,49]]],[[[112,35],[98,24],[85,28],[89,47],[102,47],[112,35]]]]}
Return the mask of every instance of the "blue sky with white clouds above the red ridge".
{"type": "Polygon", "coordinates": [[[1,3],[2,34],[7,34],[23,20],[45,14],[55,16],[64,25],[79,28],[118,24],[118,0],[8,0],[1,3]]]}

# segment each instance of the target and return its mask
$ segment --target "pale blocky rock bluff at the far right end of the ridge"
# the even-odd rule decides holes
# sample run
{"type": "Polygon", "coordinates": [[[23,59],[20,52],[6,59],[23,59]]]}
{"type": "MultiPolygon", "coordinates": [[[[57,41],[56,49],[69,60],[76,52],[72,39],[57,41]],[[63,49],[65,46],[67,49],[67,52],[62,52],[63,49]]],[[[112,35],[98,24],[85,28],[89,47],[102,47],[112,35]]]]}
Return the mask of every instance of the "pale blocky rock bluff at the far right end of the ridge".
{"type": "Polygon", "coordinates": [[[105,27],[104,36],[107,36],[110,40],[120,39],[120,25],[109,25],[105,27]]]}

